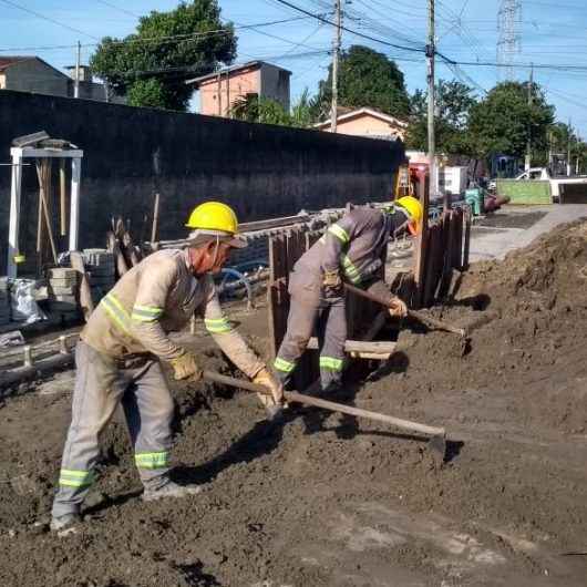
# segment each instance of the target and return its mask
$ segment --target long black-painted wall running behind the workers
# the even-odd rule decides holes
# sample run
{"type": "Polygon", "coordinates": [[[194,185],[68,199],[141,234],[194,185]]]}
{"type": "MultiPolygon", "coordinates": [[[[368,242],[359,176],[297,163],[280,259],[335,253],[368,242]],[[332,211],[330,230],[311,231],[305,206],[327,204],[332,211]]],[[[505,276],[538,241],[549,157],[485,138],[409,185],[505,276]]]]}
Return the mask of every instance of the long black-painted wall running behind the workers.
{"type": "MultiPolygon", "coordinates": [[[[0,163],[10,161],[13,137],[38,131],[84,151],[82,247],[104,246],[113,215],[130,218],[138,238],[157,188],[159,236],[178,238],[189,210],[206,199],[230,204],[243,222],[387,199],[403,158],[403,146],[387,141],[0,91],[0,163]]],[[[20,245],[31,256],[34,167],[24,168],[23,179],[20,245]]],[[[10,167],[2,166],[0,235],[8,233],[9,202],[10,167]]],[[[0,274],[6,241],[0,237],[0,274]]],[[[66,239],[60,245],[65,250],[66,239]]]]}

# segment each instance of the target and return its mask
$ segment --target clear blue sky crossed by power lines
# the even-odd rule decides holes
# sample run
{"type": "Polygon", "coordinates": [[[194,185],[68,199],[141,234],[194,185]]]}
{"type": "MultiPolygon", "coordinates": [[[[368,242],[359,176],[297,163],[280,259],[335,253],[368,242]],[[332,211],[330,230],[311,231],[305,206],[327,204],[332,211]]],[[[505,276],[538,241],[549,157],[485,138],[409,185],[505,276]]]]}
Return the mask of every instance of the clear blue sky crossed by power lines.
{"type": "MultiPolygon", "coordinates": [[[[333,0],[288,0],[289,3],[332,20],[333,0]]],[[[365,44],[398,62],[410,92],[425,86],[428,0],[344,1],[342,47],[365,44]],[[358,34],[356,34],[358,33],[358,34]],[[372,39],[359,37],[364,34],[372,39]],[[397,45],[397,47],[393,47],[397,45]]],[[[472,65],[449,66],[439,60],[436,76],[459,79],[481,97],[506,71],[496,68],[497,19],[502,0],[436,0],[437,50],[452,61],[472,65]],[[484,66],[481,63],[490,63],[484,66]]],[[[558,120],[587,138],[587,3],[584,0],[519,0],[516,32],[519,50],[513,55],[514,80],[534,79],[556,106],[558,120]],[[570,68],[570,69],[569,69],[570,68]],[[575,68],[575,69],[573,69],[575,68]],[[581,69],[584,68],[584,69],[581,69]]],[[[305,87],[315,93],[331,61],[333,27],[287,7],[279,0],[219,0],[224,20],[237,28],[236,62],[264,59],[292,72],[292,101],[305,87]],[[271,25],[243,28],[284,21],[271,25]]],[[[105,35],[123,38],[134,31],[137,17],[152,10],[171,10],[176,0],[0,0],[0,55],[37,54],[63,69],[75,62],[75,43],[82,43],[86,62],[105,35]]],[[[197,110],[197,99],[193,100],[197,110]]]]}

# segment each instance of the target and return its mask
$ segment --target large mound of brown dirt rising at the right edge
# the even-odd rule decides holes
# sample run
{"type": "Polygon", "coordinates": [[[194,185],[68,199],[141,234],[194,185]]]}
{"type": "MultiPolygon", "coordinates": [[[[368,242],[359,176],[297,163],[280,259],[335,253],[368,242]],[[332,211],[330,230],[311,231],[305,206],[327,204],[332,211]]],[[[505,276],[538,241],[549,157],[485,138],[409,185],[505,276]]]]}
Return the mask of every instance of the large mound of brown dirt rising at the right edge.
{"type": "Polygon", "coordinates": [[[470,331],[402,332],[395,361],[410,401],[460,389],[509,391],[503,409],[527,426],[587,426],[587,222],[562,226],[503,261],[474,265],[436,316],[470,331]]]}

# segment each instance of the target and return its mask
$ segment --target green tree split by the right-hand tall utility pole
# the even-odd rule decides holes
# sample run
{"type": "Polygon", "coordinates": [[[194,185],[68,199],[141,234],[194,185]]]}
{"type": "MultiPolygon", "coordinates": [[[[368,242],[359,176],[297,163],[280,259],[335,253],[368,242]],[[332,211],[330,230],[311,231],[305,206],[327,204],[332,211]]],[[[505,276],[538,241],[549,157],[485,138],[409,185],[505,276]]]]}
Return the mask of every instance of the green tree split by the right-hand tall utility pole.
{"type": "MultiPolygon", "coordinates": [[[[457,81],[440,80],[436,84],[436,116],[434,120],[436,150],[449,154],[471,155],[467,130],[471,109],[475,104],[473,90],[457,81]]],[[[405,142],[409,148],[428,150],[428,93],[416,90],[411,100],[410,125],[405,142]]]]}

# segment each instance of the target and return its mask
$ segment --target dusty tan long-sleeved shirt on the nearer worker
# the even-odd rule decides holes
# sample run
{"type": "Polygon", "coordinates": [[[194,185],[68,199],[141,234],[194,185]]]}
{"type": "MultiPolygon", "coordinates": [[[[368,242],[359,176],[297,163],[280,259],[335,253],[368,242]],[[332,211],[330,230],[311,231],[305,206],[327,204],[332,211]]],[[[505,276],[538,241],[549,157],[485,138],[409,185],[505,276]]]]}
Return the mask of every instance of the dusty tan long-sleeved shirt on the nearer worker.
{"type": "Polygon", "coordinates": [[[171,361],[183,350],[168,333],[183,330],[194,313],[248,377],[265,367],[224,316],[212,276],[195,278],[186,251],[177,249],[154,253],[125,274],[99,303],[81,338],[112,357],[150,352],[171,361]]]}

